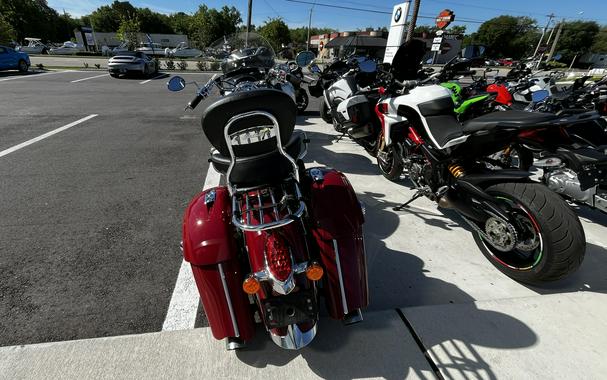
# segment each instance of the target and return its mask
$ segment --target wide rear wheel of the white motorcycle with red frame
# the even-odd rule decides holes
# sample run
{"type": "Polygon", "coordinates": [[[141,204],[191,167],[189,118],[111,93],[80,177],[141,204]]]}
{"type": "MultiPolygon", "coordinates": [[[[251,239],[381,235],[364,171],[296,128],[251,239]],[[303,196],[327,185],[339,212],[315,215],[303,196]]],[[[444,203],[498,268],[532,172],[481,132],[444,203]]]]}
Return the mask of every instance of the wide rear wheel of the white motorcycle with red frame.
{"type": "Polygon", "coordinates": [[[539,285],[579,268],[586,250],[584,230],[563,199],[537,183],[501,183],[485,191],[516,212],[516,226],[490,218],[482,228],[485,236],[475,235],[497,269],[517,281],[539,285]]]}

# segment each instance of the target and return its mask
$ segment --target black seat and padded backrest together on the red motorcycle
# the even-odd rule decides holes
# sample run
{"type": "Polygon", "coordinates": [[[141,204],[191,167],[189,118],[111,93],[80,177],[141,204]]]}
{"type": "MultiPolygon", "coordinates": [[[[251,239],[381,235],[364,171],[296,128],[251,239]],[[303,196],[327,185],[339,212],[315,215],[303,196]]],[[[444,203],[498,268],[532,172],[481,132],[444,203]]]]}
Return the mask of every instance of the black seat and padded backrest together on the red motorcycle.
{"type": "Polygon", "coordinates": [[[280,153],[276,136],[293,160],[305,151],[305,135],[294,133],[295,115],[293,99],[274,89],[232,93],[216,101],[202,115],[202,129],[214,148],[213,167],[227,175],[234,160],[227,180],[239,188],[284,180],[294,168],[280,153]]]}

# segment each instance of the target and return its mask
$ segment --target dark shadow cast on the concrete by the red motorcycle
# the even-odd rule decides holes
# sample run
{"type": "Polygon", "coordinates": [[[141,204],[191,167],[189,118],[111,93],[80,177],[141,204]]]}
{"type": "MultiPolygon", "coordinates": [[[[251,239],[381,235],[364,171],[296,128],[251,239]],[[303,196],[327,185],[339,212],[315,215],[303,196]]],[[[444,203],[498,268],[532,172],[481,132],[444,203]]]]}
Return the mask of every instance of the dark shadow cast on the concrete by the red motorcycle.
{"type": "MultiPolygon", "coordinates": [[[[462,358],[454,362],[456,364],[438,363],[439,368],[447,368],[447,365],[461,367],[466,374],[481,374],[494,379],[496,376],[489,363],[473,345],[522,348],[537,341],[535,333],[521,321],[502,313],[478,310],[474,299],[457,286],[427,277],[424,261],[420,258],[386,247],[383,240],[397,231],[400,218],[392,211],[391,203],[371,202],[371,198],[376,200],[382,196],[375,193],[359,195],[361,201],[373,203],[367,206],[364,226],[371,301],[363,312],[365,320],[360,324],[343,326],[341,322],[323,315],[315,340],[309,347],[296,352],[278,348],[260,328],[249,349],[236,353],[239,360],[252,367],[265,368],[284,366],[301,356],[316,375],[331,379],[401,379],[413,374],[430,378],[432,373],[428,362],[395,311],[399,307],[420,303],[448,306],[453,302],[464,303],[471,317],[489,320],[499,326],[482,339],[467,334],[475,326],[462,326],[462,331],[454,330],[457,331],[455,335],[444,334],[424,340],[425,348],[455,341],[466,347],[466,355],[462,354],[462,358]],[[437,337],[438,341],[435,340],[437,337]]],[[[465,325],[465,321],[461,323],[465,325]]]]}

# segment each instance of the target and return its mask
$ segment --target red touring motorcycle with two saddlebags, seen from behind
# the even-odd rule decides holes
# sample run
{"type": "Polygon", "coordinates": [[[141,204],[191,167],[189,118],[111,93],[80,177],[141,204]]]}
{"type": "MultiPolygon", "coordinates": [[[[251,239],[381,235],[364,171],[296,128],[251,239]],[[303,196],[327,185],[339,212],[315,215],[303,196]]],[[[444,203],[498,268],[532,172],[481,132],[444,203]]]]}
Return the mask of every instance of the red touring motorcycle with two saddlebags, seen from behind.
{"type": "MultiPolygon", "coordinates": [[[[226,185],[188,206],[183,255],[213,336],[227,338],[229,350],[253,338],[256,322],[278,346],[300,349],[316,335],[321,295],[332,318],[362,320],[363,209],[342,173],[304,169],[308,140],[294,130],[292,97],[255,83],[227,88],[234,81],[222,78],[188,105],[196,107],[214,87],[224,94],[204,111],[202,129],[226,185]]],[[[168,87],[181,90],[185,81],[173,77],[168,87]]]]}

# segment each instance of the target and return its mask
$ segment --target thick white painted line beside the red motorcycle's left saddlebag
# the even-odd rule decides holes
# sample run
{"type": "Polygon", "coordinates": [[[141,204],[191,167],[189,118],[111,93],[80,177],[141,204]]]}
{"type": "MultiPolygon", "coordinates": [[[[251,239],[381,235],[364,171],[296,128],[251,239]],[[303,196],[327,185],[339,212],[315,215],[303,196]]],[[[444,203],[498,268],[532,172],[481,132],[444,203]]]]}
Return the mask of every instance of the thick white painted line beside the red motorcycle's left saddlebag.
{"type": "MultiPolygon", "coordinates": [[[[209,189],[219,185],[221,175],[209,165],[207,177],[204,181],[204,189],[209,189]]],[[[192,276],[190,264],[182,260],[169,310],[162,324],[163,331],[188,330],[193,329],[196,323],[196,312],[198,311],[198,302],[200,296],[196,289],[196,283],[192,276]]]]}

